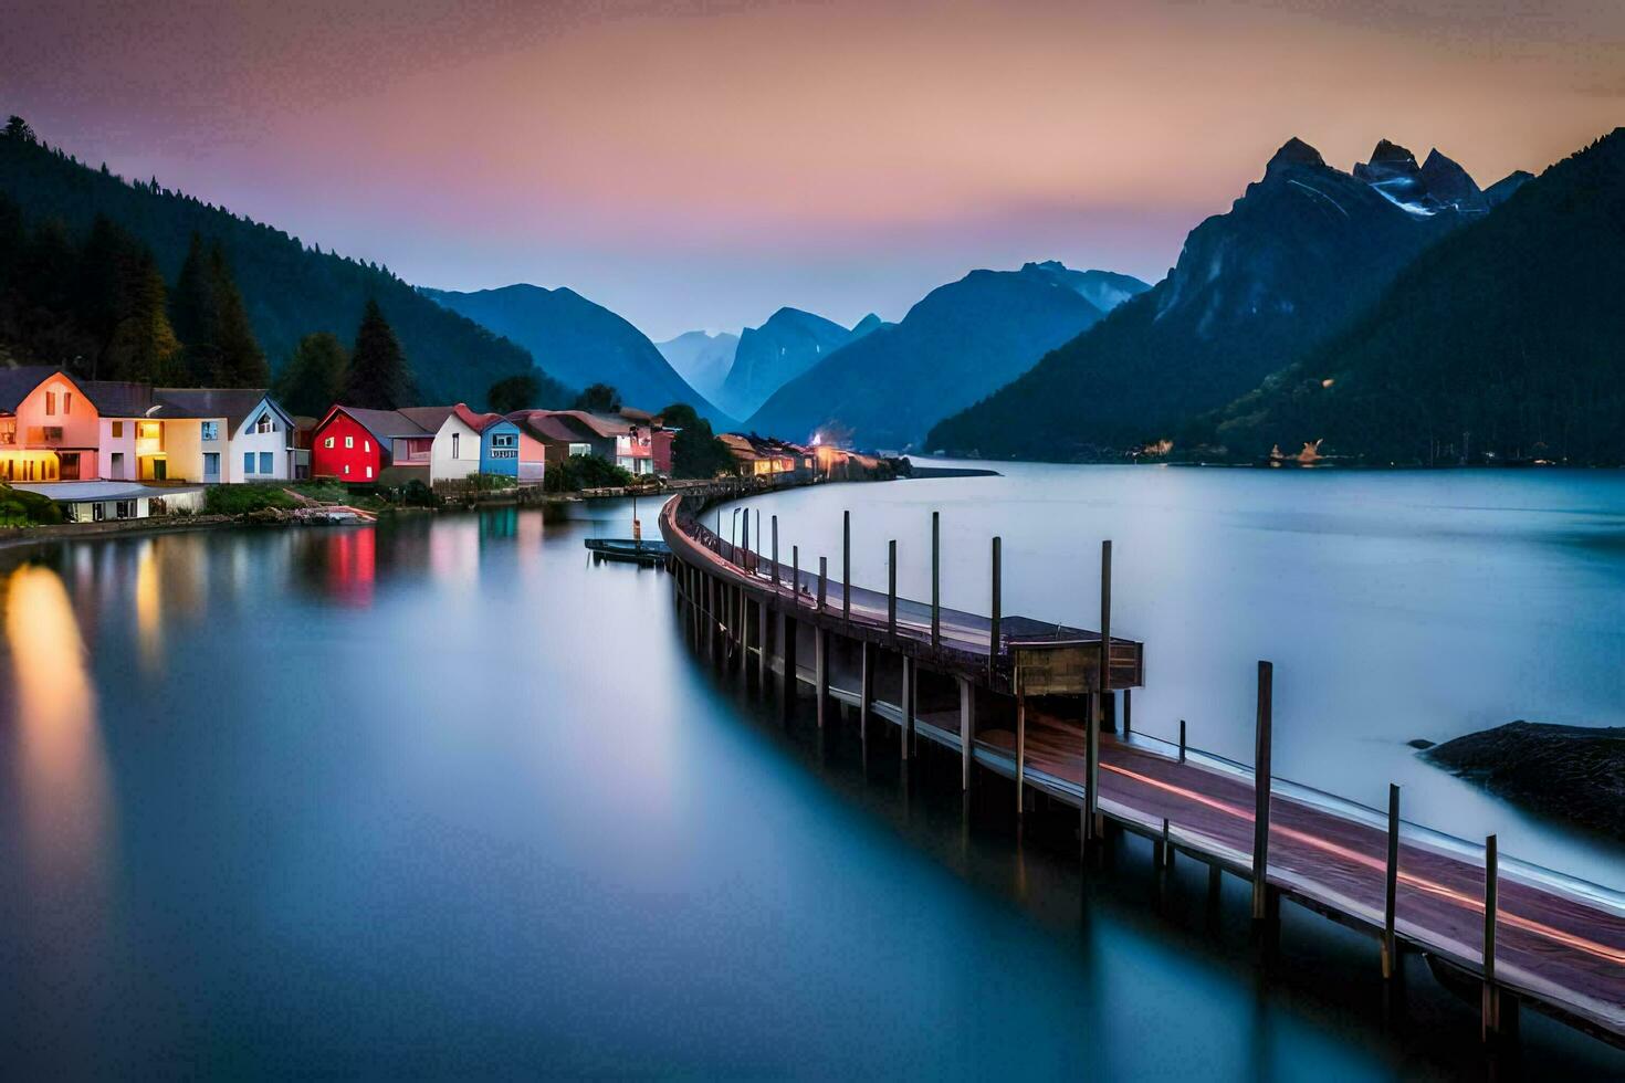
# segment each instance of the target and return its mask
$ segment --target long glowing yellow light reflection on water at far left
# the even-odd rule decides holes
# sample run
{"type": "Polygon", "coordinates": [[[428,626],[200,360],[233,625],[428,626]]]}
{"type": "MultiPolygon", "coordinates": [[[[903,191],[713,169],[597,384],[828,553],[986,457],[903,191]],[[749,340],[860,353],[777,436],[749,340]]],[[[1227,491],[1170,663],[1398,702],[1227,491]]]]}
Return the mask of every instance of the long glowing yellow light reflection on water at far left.
{"type": "Polygon", "coordinates": [[[23,565],[6,580],[5,630],[16,693],[16,784],[36,887],[52,895],[99,880],[107,768],[84,641],[55,572],[23,565]]]}

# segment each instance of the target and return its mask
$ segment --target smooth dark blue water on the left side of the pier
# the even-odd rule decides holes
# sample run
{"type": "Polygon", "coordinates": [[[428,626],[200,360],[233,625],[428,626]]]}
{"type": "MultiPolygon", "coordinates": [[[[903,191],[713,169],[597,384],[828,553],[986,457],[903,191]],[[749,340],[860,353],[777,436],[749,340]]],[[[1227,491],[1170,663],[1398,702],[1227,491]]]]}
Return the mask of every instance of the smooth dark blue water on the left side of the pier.
{"type": "MultiPolygon", "coordinates": [[[[782,726],[593,531],[0,554],[8,1075],[1484,1070],[1415,960],[1384,1023],[1363,940],[1289,913],[1261,963],[1240,885],[1084,880],[956,766],[782,726]]],[[[1540,1018],[1524,1059],[1622,1070],[1540,1018]]]]}

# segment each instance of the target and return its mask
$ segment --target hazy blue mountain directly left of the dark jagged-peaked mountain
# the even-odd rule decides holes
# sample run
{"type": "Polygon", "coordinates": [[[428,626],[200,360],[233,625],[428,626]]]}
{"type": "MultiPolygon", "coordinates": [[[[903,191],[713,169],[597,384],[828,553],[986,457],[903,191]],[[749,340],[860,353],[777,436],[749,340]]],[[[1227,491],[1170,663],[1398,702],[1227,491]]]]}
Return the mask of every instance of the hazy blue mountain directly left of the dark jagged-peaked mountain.
{"type": "Polygon", "coordinates": [[[795,440],[827,429],[863,447],[907,448],[933,421],[1097,323],[1105,310],[1090,294],[1115,304],[1144,289],[1124,274],[1060,263],[972,271],[778,388],[749,427],[795,440]]]}

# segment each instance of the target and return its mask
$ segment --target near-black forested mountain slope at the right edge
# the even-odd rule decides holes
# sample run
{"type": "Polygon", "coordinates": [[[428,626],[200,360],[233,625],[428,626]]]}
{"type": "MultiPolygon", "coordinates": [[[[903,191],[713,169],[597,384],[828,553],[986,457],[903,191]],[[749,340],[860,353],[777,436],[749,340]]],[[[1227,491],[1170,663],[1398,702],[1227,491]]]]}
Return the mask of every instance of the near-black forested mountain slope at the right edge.
{"type": "Polygon", "coordinates": [[[1237,458],[1318,440],[1376,463],[1625,463],[1625,128],[1514,188],[1206,438],[1237,458]]]}

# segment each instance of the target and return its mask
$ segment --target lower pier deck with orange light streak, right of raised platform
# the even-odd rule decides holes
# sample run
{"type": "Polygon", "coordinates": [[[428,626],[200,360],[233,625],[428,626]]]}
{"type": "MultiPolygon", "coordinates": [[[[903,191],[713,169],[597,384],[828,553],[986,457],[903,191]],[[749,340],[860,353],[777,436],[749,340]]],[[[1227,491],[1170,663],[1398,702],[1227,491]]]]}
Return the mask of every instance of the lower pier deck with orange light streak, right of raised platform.
{"type": "MultiPolygon", "coordinates": [[[[1102,781],[1102,809],[1154,836],[1165,831],[1172,846],[1220,859],[1251,877],[1250,807],[1242,800],[1230,804],[1230,817],[1209,813],[1214,796],[1227,789],[1212,779],[1245,783],[1251,791],[1253,770],[1142,731],[1118,740],[1136,755],[1188,771],[1178,787],[1202,800],[1175,802],[1152,815],[1131,792],[1113,796],[1116,787],[1108,778],[1102,781]],[[1224,830],[1225,818],[1235,822],[1232,830],[1224,830]]],[[[1610,1041],[1625,1034],[1625,891],[1502,852],[1495,854],[1490,878],[1484,839],[1393,817],[1398,802],[1393,810],[1373,809],[1276,774],[1269,779],[1269,804],[1271,883],[1339,921],[1352,919],[1373,932],[1391,924],[1398,940],[1471,976],[1485,976],[1488,950],[1497,986],[1545,1003],[1610,1041]],[[1391,919],[1383,890],[1389,830],[1398,836],[1391,919]]]]}

